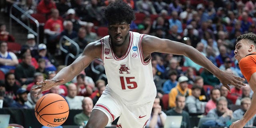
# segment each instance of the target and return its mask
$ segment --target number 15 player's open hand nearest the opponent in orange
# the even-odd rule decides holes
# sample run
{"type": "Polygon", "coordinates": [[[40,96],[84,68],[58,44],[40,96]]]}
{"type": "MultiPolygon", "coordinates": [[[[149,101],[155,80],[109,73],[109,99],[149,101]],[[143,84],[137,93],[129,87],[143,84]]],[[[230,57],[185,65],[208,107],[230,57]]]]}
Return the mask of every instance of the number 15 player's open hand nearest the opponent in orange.
{"type": "Polygon", "coordinates": [[[235,76],[233,72],[222,70],[218,78],[222,83],[222,85],[228,88],[229,92],[230,92],[230,86],[228,84],[234,85],[237,88],[242,88],[242,86],[246,86],[246,84],[243,83],[244,78],[235,76]]]}

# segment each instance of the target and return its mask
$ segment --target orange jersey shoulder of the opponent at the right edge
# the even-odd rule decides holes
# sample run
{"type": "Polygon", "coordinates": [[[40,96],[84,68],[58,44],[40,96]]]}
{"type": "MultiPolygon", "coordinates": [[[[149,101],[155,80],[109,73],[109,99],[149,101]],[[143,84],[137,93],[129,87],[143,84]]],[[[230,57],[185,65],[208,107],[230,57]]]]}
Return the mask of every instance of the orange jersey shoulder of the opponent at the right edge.
{"type": "Polygon", "coordinates": [[[249,82],[252,74],[256,72],[256,55],[249,55],[242,58],[239,62],[239,67],[242,74],[249,82]]]}

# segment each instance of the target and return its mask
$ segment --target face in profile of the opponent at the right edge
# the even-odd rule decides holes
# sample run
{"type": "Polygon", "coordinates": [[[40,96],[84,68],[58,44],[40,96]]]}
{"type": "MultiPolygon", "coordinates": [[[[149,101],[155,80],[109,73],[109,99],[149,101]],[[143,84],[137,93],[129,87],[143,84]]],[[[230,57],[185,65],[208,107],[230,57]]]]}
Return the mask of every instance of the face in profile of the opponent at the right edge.
{"type": "Polygon", "coordinates": [[[236,60],[240,62],[242,58],[250,54],[249,49],[250,44],[247,40],[240,40],[239,42],[237,42],[236,49],[234,50],[236,60]]]}

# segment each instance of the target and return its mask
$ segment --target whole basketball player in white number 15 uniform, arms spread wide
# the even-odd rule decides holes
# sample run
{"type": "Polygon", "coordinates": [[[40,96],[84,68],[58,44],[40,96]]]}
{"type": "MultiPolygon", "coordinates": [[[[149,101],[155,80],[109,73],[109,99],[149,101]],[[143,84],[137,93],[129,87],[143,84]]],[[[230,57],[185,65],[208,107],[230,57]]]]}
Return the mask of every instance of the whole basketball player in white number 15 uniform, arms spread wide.
{"type": "Polygon", "coordinates": [[[155,36],[130,32],[130,24],[135,19],[130,6],[117,0],[106,7],[109,36],[92,42],[72,64],[63,68],[51,80],[38,82],[34,90],[42,91],[64,84],[77,76],[90,62],[101,58],[104,62],[108,85],[94,106],[86,128],[104,128],[120,117],[116,127],[143,128],[156,97],[153,81],[152,52],[179,54],[189,57],[203,66],[230,90],[228,84],[241,88],[244,79],[232,72],[222,71],[192,46],[155,36]]]}

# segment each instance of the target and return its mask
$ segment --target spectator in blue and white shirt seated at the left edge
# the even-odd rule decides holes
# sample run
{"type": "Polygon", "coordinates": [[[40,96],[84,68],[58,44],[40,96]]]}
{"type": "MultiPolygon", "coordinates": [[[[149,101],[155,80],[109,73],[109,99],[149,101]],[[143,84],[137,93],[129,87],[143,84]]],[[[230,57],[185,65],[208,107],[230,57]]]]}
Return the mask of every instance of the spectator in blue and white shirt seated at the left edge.
{"type": "Polygon", "coordinates": [[[4,74],[10,70],[14,70],[19,63],[17,56],[7,50],[7,43],[0,41],[0,70],[4,72],[4,74]]]}

